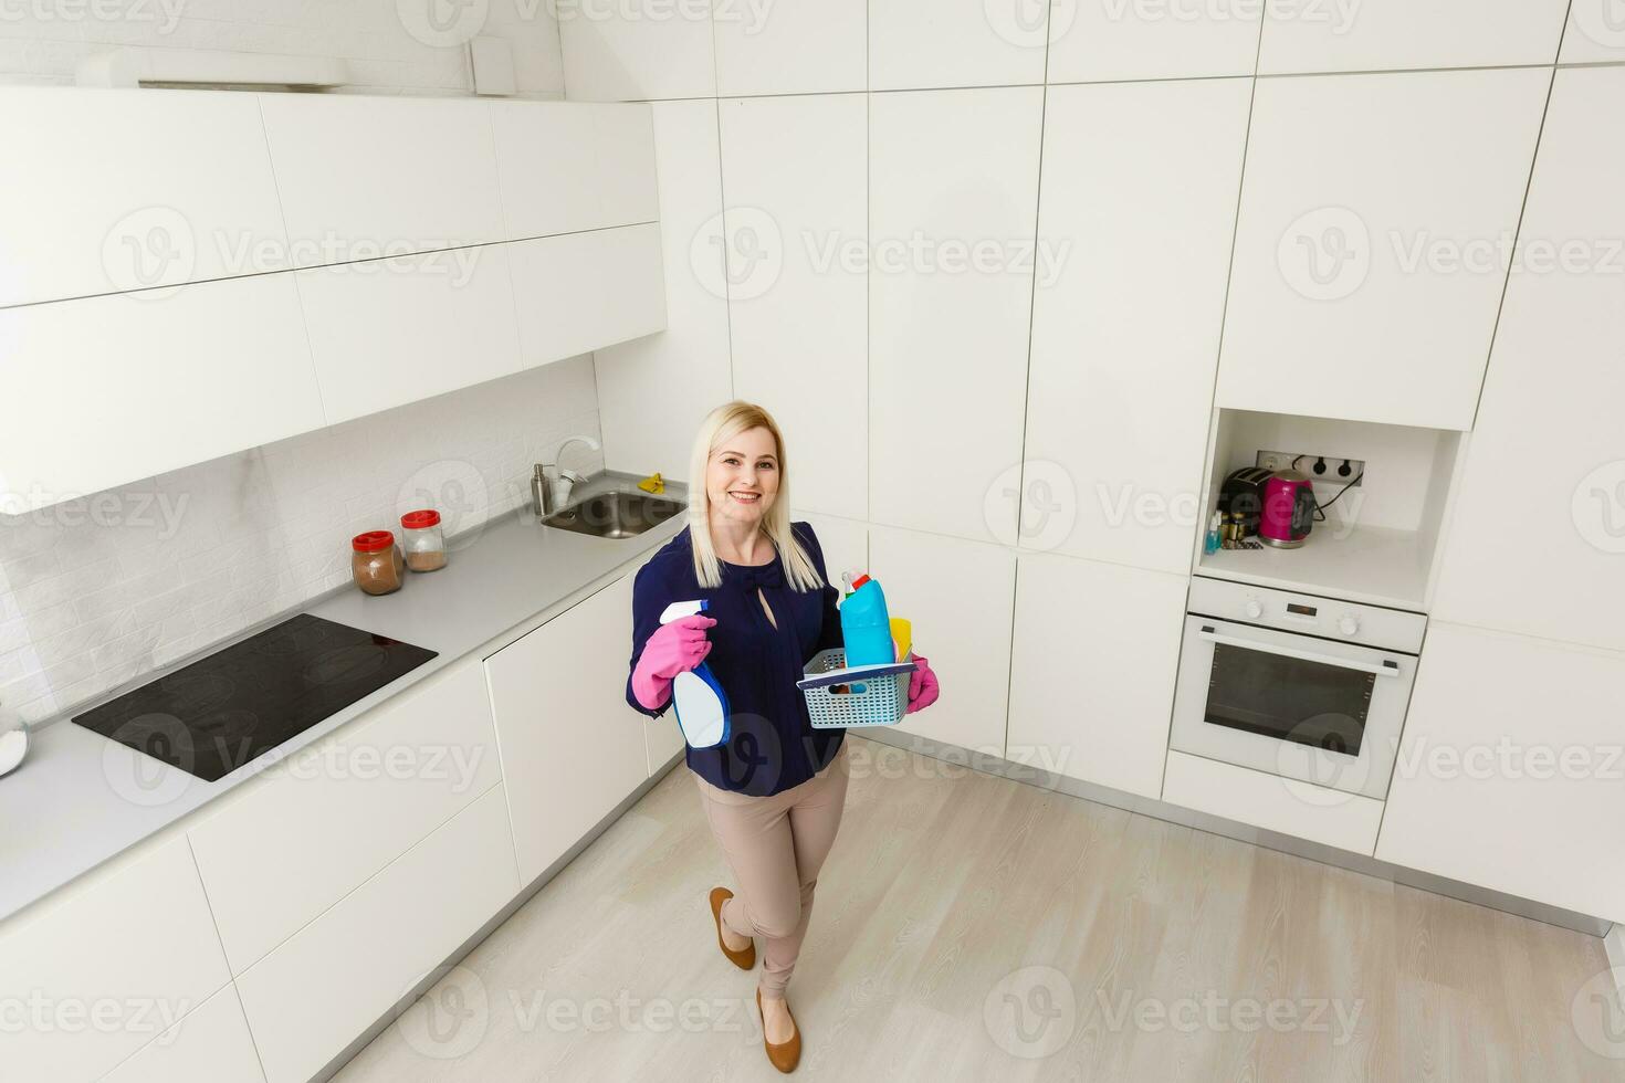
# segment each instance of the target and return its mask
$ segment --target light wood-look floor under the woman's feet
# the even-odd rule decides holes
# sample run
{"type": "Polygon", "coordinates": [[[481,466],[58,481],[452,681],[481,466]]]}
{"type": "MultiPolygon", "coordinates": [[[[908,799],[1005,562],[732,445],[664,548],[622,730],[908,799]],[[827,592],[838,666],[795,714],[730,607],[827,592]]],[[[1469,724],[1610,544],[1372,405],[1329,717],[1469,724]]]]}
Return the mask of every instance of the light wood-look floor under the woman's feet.
{"type": "MultiPolygon", "coordinates": [[[[1625,1080],[1601,940],[848,742],[796,1078],[1625,1080]]],[[[679,763],[336,1078],[780,1078],[717,883],[679,763]]]]}

